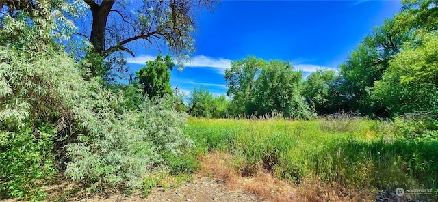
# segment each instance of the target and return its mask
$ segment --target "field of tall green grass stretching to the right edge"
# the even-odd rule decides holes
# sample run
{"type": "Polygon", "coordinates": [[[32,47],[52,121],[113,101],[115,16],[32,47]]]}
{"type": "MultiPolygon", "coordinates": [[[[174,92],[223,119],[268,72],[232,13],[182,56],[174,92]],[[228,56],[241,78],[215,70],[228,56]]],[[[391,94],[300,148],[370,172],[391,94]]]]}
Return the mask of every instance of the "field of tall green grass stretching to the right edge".
{"type": "Polygon", "coordinates": [[[436,190],[437,139],[406,138],[386,121],[191,117],[188,125],[185,132],[194,141],[196,154],[232,154],[242,175],[263,169],[297,185],[312,178],[372,192],[396,187],[436,190]]]}

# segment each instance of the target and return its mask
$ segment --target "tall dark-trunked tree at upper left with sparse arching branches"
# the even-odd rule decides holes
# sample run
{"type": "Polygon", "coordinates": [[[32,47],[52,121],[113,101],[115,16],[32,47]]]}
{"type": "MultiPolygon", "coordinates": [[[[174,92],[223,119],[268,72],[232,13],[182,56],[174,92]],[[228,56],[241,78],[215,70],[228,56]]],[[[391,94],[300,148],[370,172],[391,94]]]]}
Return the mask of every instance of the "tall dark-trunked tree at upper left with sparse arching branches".
{"type": "MultiPolygon", "coordinates": [[[[89,8],[89,18],[83,19],[85,27],[81,35],[92,44],[92,53],[108,57],[112,53],[125,51],[134,56],[133,42],[149,45],[167,44],[168,51],[181,59],[194,51],[196,12],[211,9],[214,0],[156,0],[156,1],[116,1],[83,0],[89,8]],[[136,4],[136,5],[133,5],[136,4]]],[[[95,56],[94,56],[95,57],[95,56]]],[[[93,76],[101,76],[99,68],[91,66],[93,76]]]]}

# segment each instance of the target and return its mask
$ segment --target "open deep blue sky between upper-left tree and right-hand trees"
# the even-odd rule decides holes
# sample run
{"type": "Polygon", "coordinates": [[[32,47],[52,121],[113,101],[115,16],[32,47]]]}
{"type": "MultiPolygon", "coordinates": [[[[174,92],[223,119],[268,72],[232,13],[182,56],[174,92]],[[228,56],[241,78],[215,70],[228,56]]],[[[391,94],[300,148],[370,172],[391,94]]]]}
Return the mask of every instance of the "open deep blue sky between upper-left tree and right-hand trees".
{"type": "MultiPolygon", "coordinates": [[[[307,74],[335,69],[399,10],[400,1],[222,1],[199,16],[196,52],[182,72],[172,71],[170,83],[185,93],[203,85],[225,94],[225,68],[248,55],[290,61],[307,74]]],[[[155,56],[127,57],[128,65],[137,71],[155,56]]]]}

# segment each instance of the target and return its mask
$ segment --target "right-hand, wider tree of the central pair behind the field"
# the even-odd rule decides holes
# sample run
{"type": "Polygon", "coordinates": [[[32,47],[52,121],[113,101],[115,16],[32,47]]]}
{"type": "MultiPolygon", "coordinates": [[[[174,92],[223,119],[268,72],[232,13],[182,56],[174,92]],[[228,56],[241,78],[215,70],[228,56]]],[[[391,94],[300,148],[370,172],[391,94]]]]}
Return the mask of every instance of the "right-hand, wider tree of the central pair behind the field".
{"type": "Polygon", "coordinates": [[[261,69],[255,87],[257,115],[273,112],[285,117],[313,117],[300,94],[302,72],[296,72],[290,63],[273,60],[261,69]]]}

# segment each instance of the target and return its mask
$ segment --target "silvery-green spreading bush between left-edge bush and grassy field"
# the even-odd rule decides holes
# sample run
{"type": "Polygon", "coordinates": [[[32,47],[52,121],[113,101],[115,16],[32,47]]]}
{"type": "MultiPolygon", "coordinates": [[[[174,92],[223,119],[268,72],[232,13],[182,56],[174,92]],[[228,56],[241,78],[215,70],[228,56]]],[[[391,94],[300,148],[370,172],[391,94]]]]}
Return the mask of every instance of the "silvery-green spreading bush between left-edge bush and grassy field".
{"type": "Polygon", "coordinates": [[[67,145],[66,175],[99,185],[140,188],[140,177],[162,162],[159,155],[177,155],[191,141],[181,131],[185,115],[177,113],[168,100],[145,99],[135,111],[116,113],[121,94],[100,89],[93,92],[91,109],[83,112],[84,134],[79,143],[67,145]],[[95,114],[95,115],[93,115],[95,114]]]}

